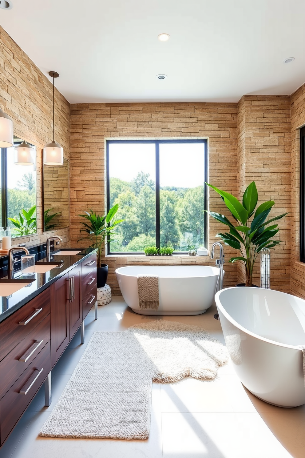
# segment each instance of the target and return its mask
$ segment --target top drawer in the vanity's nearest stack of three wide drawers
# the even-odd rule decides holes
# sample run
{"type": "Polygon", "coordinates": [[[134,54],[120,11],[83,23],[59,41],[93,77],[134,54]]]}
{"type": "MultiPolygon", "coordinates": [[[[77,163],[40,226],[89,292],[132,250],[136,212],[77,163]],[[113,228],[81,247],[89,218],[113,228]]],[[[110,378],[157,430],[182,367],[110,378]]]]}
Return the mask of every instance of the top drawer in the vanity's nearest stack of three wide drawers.
{"type": "Polygon", "coordinates": [[[0,323],[0,361],[50,313],[50,289],[0,323]]]}

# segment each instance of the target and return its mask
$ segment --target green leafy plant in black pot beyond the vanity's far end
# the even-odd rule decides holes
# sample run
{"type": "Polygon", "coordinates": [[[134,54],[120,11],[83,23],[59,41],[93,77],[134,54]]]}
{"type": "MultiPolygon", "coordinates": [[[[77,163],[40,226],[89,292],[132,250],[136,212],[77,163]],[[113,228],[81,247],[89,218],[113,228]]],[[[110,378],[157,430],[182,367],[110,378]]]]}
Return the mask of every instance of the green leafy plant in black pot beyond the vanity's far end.
{"type": "Polygon", "coordinates": [[[115,219],[115,215],[118,211],[118,204],[110,208],[107,215],[97,215],[91,208],[89,212],[85,212],[84,215],[78,215],[86,218],[86,222],[81,222],[84,226],[80,229],[81,232],[86,232],[86,237],[82,237],[78,240],[90,240],[91,248],[97,248],[96,252],[96,277],[97,277],[97,288],[103,288],[107,281],[108,266],[102,264],[102,252],[107,242],[112,241],[111,237],[115,232],[113,229],[117,224],[122,223],[124,219],[115,219]]]}

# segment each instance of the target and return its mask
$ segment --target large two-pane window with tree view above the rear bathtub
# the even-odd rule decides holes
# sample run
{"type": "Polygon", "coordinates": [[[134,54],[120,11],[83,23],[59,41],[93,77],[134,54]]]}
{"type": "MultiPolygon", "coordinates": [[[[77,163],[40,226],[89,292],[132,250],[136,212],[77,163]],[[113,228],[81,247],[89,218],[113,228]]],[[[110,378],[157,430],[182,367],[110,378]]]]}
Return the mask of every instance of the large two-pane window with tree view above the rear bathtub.
{"type": "Polygon", "coordinates": [[[206,245],[206,181],[206,140],[108,141],[107,211],[125,220],[108,253],[206,245]]]}

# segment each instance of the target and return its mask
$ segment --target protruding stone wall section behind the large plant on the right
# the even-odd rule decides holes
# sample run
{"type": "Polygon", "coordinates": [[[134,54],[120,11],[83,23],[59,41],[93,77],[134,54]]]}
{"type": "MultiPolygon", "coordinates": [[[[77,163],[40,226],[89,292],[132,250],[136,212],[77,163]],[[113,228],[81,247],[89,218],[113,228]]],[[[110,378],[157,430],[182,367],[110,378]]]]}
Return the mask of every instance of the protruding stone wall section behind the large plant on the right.
{"type": "MultiPolygon", "coordinates": [[[[258,203],[274,200],[270,218],[290,212],[290,97],[243,96],[238,103],[238,180],[239,197],[255,181],[258,203]]],[[[271,288],[290,291],[290,214],[279,222],[271,250],[271,288]],[[278,237],[279,235],[279,237],[278,237]]],[[[260,284],[257,258],[253,283],[260,284]]],[[[242,264],[238,280],[244,278],[242,264]]]]}

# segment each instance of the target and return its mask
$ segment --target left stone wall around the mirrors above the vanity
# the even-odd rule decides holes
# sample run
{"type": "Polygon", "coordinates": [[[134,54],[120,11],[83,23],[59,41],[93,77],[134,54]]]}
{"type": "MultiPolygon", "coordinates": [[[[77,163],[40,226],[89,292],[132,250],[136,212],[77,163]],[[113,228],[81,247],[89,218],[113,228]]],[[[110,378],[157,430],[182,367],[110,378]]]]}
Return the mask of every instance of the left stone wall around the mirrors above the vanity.
{"type": "MultiPolygon", "coordinates": [[[[56,70],[56,69],[50,69],[56,70]]],[[[59,234],[70,240],[69,227],[43,232],[42,148],[53,140],[52,83],[0,27],[0,107],[14,121],[14,134],[37,147],[37,234],[18,237],[13,243],[35,245],[59,234]]],[[[70,159],[70,104],[55,89],[55,140],[70,159]]],[[[0,242],[1,244],[1,242],[0,242]]]]}

